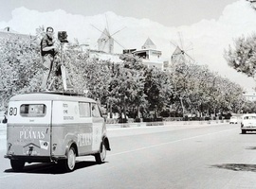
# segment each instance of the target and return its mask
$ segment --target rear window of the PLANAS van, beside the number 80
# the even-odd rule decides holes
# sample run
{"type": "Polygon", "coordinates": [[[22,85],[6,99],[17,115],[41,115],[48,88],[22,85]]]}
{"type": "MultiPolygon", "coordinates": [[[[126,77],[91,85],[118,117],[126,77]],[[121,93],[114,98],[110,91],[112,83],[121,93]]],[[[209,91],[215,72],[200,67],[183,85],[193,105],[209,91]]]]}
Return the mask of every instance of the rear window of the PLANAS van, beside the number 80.
{"type": "Polygon", "coordinates": [[[46,105],[23,104],[20,107],[20,114],[24,117],[44,117],[46,115],[46,105]]]}

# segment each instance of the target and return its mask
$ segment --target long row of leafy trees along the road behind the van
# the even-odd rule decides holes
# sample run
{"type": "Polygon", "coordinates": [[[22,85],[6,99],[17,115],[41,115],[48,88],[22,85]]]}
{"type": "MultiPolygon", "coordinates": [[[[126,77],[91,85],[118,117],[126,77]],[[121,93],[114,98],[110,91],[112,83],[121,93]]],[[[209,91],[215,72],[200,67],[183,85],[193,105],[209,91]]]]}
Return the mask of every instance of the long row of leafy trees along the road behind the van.
{"type": "MultiPolygon", "coordinates": [[[[40,27],[36,38],[1,39],[1,109],[7,108],[10,96],[39,90],[39,43],[43,33],[40,27]]],[[[87,96],[101,101],[106,112],[119,112],[124,118],[157,118],[242,112],[247,108],[243,89],[205,65],[182,60],[162,71],[146,67],[132,55],[120,55],[120,62],[113,63],[91,59],[88,53],[82,52],[78,42],[69,43],[64,50],[64,64],[75,91],[88,92],[87,96]]],[[[53,74],[58,70],[60,54],[55,62],[53,74]]],[[[60,76],[55,77],[53,90],[63,90],[60,76]]]]}

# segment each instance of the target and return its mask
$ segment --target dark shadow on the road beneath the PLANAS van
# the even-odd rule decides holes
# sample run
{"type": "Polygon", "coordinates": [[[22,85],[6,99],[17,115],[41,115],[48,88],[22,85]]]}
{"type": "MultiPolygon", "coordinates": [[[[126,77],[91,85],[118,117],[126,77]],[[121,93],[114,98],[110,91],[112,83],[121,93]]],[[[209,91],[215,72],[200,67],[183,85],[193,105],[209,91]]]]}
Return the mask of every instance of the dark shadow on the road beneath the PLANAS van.
{"type": "MultiPolygon", "coordinates": [[[[80,161],[76,163],[75,170],[86,168],[89,166],[97,165],[98,163],[92,161],[80,161]]],[[[17,173],[13,169],[7,169],[5,173],[17,173]]],[[[56,163],[34,163],[25,165],[22,171],[18,173],[28,173],[28,174],[64,174],[67,173],[62,167],[56,163]]]]}

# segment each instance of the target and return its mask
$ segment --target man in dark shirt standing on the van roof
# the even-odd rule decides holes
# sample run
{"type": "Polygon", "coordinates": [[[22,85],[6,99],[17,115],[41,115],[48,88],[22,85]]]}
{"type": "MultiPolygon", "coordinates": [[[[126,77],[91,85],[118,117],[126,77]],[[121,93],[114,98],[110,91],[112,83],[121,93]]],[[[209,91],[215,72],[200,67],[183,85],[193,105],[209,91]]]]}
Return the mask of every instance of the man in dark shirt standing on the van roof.
{"type": "Polygon", "coordinates": [[[56,54],[56,46],[52,40],[53,28],[48,26],[46,28],[46,35],[41,41],[41,55],[43,60],[43,80],[41,84],[41,90],[47,90],[47,81],[52,70],[52,64],[54,56],[56,54]]]}

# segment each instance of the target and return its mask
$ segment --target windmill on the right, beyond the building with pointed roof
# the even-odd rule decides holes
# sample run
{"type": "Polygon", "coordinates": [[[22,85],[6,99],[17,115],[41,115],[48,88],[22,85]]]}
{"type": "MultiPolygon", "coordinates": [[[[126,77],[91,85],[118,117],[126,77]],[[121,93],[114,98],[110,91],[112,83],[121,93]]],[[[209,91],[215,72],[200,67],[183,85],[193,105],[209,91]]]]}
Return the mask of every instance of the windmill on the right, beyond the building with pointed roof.
{"type": "Polygon", "coordinates": [[[180,62],[180,61],[189,61],[194,62],[192,56],[188,53],[188,51],[192,51],[192,43],[184,46],[184,40],[181,32],[178,32],[178,43],[170,41],[170,43],[174,46],[174,53],[171,57],[172,63],[180,62]]]}

